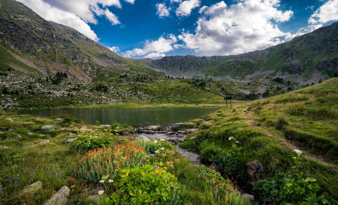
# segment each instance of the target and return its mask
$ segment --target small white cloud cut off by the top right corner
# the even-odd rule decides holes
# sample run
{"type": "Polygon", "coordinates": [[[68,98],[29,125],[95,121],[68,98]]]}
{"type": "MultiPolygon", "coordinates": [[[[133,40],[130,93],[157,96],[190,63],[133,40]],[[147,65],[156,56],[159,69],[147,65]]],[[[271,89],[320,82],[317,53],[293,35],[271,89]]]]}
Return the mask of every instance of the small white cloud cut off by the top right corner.
{"type": "Polygon", "coordinates": [[[318,8],[308,19],[309,24],[325,24],[330,20],[338,20],[338,0],[329,0],[318,8]]]}

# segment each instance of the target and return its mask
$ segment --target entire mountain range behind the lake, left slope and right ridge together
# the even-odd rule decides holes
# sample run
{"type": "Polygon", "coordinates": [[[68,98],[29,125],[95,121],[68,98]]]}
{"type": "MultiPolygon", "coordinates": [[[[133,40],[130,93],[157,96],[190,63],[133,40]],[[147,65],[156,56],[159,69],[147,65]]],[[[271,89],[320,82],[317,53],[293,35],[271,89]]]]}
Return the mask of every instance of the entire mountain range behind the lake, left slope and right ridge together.
{"type": "Polygon", "coordinates": [[[128,59],[70,27],[43,19],[19,2],[1,0],[0,50],[2,70],[62,71],[85,81],[130,72],[247,81],[281,77],[303,85],[338,70],[338,23],[240,55],[128,59]]]}

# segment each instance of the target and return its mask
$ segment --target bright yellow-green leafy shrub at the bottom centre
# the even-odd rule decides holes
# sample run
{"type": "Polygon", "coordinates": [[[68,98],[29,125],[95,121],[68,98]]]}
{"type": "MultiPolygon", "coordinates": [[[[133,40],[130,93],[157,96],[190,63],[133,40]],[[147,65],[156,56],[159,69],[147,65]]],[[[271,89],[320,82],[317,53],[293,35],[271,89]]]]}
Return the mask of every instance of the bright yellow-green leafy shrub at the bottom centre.
{"type": "Polygon", "coordinates": [[[101,204],[177,204],[180,198],[176,177],[151,165],[123,169],[115,184],[116,193],[101,204]]]}

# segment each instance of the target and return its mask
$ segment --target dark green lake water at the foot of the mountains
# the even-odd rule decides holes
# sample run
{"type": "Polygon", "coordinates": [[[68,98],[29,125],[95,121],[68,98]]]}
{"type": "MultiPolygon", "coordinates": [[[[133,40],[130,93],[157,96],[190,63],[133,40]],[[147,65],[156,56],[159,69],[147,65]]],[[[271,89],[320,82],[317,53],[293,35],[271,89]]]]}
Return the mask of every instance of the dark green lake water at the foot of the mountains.
{"type": "Polygon", "coordinates": [[[128,124],[134,127],[147,125],[169,126],[176,122],[184,122],[216,111],[217,108],[145,108],[145,109],[57,109],[57,110],[25,110],[18,114],[35,116],[73,115],[88,124],[128,124]]]}

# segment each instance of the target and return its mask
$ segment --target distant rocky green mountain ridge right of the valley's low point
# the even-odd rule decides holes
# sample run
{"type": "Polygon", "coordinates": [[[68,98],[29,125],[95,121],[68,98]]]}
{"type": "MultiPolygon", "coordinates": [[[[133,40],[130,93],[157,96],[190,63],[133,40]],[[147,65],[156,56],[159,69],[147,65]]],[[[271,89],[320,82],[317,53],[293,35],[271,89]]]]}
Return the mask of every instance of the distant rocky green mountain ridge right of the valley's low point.
{"type": "Polygon", "coordinates": [[[332,76],[338,70],[337,60],[338,23],[333,23],[289,42],[240,55],[168,56],[140,61],[174,77],[283,77],[306,84],[332,76]]]}

